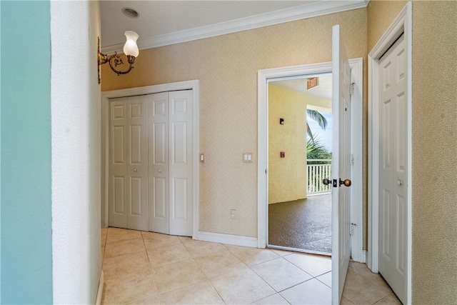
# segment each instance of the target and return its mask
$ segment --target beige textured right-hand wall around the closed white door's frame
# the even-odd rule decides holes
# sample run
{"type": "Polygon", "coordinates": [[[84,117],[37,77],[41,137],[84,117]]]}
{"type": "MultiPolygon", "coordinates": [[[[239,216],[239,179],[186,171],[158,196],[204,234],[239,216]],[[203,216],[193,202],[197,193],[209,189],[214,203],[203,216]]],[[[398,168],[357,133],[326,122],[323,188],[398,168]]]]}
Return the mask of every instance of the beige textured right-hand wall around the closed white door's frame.
{"type": "MultiPolygon", "coordinates": [[[[368,51],[400,2],[368,5],[368,51]]],[[[413,304],[457,304],[456,21],[457,1],[413,1],[413,304]]]]}

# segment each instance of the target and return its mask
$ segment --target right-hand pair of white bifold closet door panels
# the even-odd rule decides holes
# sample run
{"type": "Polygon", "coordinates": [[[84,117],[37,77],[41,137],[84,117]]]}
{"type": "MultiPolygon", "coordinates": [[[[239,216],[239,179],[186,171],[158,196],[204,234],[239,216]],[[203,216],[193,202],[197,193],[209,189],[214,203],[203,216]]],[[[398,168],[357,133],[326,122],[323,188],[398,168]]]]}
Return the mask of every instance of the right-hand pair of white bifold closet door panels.
{"type": "Polygon", "coordinates": [[[149,231],[192,236],[192,98],[149,96],[149,231]]]}

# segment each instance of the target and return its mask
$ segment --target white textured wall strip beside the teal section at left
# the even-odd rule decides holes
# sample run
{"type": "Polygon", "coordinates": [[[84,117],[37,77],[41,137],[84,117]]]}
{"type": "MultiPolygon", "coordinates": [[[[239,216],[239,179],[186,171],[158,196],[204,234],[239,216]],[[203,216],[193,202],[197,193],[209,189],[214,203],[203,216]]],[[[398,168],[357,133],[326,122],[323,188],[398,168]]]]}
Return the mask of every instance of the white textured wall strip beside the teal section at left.
{"type": "Polygon", "coordinates": [[[51,1],[54,304],[95,304],[99,286],[100,32],[99,1],[51,1]]]}

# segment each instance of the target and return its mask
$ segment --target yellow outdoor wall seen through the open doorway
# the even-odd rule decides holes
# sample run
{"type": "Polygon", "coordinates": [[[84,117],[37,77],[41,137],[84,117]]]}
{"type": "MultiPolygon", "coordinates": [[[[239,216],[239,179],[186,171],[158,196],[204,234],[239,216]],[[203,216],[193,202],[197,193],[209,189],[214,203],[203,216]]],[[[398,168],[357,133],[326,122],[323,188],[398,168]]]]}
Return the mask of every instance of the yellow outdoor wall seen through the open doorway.
{"type": "Polygon", "coordinates": [[[268,204],[306,198],[306,97],[268,86],[268,204]]]}

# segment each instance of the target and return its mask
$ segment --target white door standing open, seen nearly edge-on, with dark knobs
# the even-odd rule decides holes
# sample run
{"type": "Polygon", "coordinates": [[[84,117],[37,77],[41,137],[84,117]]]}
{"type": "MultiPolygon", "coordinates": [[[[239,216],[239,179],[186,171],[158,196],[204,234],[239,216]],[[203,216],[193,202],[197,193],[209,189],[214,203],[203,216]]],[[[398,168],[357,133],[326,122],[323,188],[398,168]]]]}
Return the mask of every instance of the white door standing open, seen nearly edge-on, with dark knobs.
{"type": "Polygon", "coordinates": [[[339,304],[348,271],[351,192],[340,181],[351,179],[351,69],[341,41],[339,26],[333,26],[332,41],[332,304],[339,304]]]}

